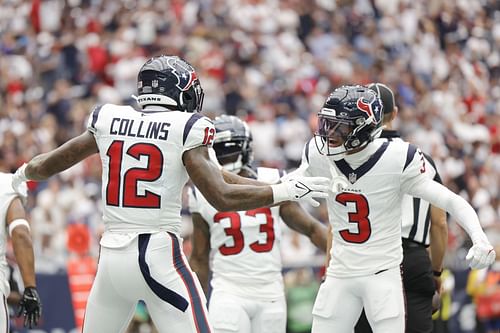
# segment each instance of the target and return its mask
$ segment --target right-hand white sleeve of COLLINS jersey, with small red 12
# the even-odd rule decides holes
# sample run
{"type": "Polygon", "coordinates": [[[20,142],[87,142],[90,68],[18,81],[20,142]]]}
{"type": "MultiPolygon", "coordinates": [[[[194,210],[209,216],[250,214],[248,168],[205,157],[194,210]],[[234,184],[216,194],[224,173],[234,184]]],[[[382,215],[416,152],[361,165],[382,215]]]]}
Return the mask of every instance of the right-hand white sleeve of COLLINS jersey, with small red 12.
{"type": "Polygon", "coordinates": [[[182,143],[184,151],[199,146],[211,148],[215,137],[215,127],[210,119],[194,113],[184,127],[182,143]]]}

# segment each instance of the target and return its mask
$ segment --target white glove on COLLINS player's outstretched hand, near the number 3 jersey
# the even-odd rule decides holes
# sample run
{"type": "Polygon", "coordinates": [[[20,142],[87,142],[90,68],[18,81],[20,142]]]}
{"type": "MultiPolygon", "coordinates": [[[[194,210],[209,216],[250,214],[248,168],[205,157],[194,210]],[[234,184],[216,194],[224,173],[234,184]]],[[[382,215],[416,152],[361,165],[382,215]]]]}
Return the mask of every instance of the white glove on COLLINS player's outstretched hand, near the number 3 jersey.
{"type": "Polygon", "coordinates": [[[326,177],[295,177],[283,183],[271,185],[274,203],[282,201],[305,201],[313,207],[318,207],[315,198],[328,197],[330,179],[326,177]]]}

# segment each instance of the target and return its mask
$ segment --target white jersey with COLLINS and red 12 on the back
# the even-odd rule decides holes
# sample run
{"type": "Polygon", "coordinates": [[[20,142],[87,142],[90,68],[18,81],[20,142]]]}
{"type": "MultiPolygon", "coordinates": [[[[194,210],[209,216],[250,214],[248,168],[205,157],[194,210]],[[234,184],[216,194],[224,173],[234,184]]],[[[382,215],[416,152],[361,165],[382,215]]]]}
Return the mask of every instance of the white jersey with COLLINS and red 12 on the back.
{"type": "MultiPolygon", "coordinates": [[[[128,233],[129,239],[140,232],[179,234],[181,195],[188,180],[182,155],[198,146],[211,147],[212,122],[199,113],[105,104],[94,109],[87,128],[102,161],[106,231],[128,233]]],[[[115,236],[105,233],[101,244],[126,243],[127,236],[115,236]]]]}

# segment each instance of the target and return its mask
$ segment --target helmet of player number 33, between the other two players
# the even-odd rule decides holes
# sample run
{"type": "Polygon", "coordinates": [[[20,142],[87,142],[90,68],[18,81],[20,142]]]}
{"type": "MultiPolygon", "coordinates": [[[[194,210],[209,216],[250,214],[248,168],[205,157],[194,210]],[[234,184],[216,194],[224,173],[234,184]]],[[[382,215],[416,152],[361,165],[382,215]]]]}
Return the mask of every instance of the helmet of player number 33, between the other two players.
{"type": "Polygon", "coordinates": [[[222,115],[214,120],[214,150],[220,165],[239,173],[253,162],[252,133],[248,124],[235,116],[222,115]]]}

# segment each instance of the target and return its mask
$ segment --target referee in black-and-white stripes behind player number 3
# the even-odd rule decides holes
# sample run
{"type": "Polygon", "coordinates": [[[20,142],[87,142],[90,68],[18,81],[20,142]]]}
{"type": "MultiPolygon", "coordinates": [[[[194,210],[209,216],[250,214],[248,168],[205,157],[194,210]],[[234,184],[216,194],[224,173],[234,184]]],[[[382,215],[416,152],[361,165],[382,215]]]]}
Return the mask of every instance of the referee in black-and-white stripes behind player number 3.
{"type": "MultiPolygon", "coordinates": [[[[388,141],[401,140],[400,134],[392,129],[398,108],[394,94],[382,83],[372,83],[384,105],[381,138],[388,141]]],[[[432,158],[426,154],[426,173],[441,183],[432,158]]],[[[441,289],[443,258],[448,241],[446,212],[431,206],[419,198],[406,195],[402,203],[403,237],[403,285],[406,294],[406,333],[431,333],[433,296],[441,289]],[[427,248],[430,246],[430,251],[427,248]]],[[[361,314],[355,328],[356,333],[371,333],[365,313],[361,314]]]]}

